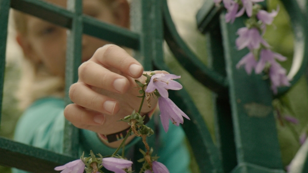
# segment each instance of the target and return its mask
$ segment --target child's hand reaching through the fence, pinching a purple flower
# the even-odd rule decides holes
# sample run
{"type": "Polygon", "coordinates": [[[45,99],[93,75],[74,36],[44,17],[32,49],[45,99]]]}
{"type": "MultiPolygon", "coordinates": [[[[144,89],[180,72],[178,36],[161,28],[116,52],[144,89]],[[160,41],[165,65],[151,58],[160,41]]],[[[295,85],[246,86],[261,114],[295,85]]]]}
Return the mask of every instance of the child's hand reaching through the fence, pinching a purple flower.
{"type": "MultiPolygon", "coordinates": [[[[141,95],[140,87],[136,88],[134,81],[145,82],[141,64],[121,47],[106,45],[83,63],[78,73],[78,82],[69,90],[74,104],[66,106],[65,118],[78,128],[101,134],[128,128],[127,123],[119,120],[134,109],[138,111],[141,104],[142,99],[137,97],[141,95]]],[[[156,104],[157,99],[151,99],[152,107],[149,108],[145,101],[140,114],[143,116],[156,104]]]]}

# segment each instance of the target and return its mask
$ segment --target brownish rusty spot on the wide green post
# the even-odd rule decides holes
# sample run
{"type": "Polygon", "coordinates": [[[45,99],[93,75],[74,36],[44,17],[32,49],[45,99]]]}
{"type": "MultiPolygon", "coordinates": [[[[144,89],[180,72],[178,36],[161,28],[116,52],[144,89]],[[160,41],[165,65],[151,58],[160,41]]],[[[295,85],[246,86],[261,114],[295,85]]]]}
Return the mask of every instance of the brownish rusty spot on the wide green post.
{"type": "Polygon", "coordinates": [[[247,103],[244,105],[246,113],[249,117],[266,117],[273,110],[271,106],[266,106],[259,103],[247,103]]]}

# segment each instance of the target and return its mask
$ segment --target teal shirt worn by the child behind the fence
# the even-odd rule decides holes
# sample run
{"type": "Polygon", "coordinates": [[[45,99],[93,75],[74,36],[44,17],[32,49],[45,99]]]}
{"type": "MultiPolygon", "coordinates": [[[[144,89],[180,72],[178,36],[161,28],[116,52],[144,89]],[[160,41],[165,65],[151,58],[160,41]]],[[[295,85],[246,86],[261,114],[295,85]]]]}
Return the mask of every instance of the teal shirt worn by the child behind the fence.
{"type": "MultiPolygon", "coordinates": [[[[64,101],[56,98],[45,98],[34,102],[23,114],[15,129],[15,141],[29,144],[35,147],[49,149],[62,153],[64,122],[64,101]]],[[[190,156],[184,142],[185,134],[181,127],[170,123],[166,133],[159,124],[155,129],[155,122],[160,121],[159,116],[154,115],[148,122],[148,126],[158,131],[158,135],[148,137],[150,147],[154,148],[154,155],[160,158],[158,162],[167,166],[170,172],[190,172],[190,156]]],[[[125,148],[125,153],[132,153],[134,146],[138,145],[140,138],[134,138],[125,148]]],[[[111,155],[115,148],[104,145],[93,131],[80,130],[80,154],[92,150],[101,155],[111,155]]],[[[121,153],[121,152],[119,152],[121,153]]],[[[85,155],[87,156],[87,155],[85,155]]],[[[138,158],[139,159],[139,158],[138,158]]],[[[13,173],[25,173],[26,171],[12,169],[13,173]]]]}

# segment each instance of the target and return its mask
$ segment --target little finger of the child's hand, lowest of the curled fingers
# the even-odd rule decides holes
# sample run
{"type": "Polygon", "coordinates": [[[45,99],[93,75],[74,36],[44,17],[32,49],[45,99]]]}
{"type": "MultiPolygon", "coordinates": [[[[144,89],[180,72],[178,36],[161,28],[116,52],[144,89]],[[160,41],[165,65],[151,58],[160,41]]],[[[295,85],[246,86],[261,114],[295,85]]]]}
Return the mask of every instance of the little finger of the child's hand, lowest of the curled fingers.
{"type": "Polygon", "coordinates": [[[78,128],[88,129],[89,126],[102,125],[105,115],[84,109],[76,104],[67,105],[64,109],[65,118],[78,128]]]}

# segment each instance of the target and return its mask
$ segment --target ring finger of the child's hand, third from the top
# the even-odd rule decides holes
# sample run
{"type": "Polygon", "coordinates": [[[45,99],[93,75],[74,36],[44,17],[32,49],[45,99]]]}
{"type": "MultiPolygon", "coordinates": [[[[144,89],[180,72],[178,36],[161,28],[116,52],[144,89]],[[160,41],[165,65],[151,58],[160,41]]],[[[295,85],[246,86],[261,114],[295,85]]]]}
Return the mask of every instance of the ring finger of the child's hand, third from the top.
{"type": "Polygon", "coordinates": [[[117,101],[93,91],[81,82],[71,85],[69,97],[75,104],[101,113],[114,114],[120,109],[117,101]]]}

